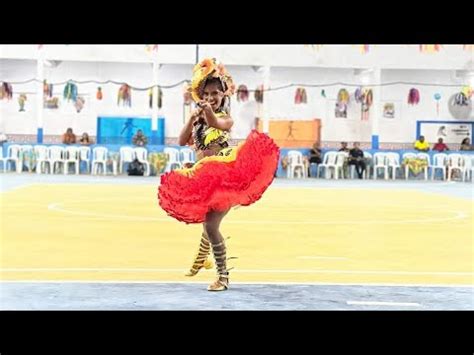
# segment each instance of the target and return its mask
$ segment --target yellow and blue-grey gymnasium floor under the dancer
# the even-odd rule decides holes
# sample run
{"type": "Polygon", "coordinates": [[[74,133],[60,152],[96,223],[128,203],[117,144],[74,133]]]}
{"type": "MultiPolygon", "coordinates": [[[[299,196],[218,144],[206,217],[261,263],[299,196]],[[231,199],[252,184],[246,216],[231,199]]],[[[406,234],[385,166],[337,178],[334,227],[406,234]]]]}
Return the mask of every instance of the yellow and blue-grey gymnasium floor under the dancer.
{"type": "Polygon", "coordinates": [[[224,219],[210,293],[158,178],[0,178],[1,309],[474,309],[472,183],[277,179],[224,219]]]}

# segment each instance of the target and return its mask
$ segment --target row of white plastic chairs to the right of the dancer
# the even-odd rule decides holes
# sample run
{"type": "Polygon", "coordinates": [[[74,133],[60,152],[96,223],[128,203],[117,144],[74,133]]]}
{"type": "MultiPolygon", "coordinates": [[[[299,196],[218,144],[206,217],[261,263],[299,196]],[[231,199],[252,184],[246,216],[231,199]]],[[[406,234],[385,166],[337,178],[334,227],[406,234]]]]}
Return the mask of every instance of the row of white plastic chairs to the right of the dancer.
{"type": "MultiPolygon", "coordinates": [[[[316,177],[320,177],[320,173],[324,171],[325,178],[329,178],[330,174],[338,179],[343,176],[344,162],[348,157],[347,152],[327,152],[323,157],[323,162],[316,165],[316,177]]],[[[307,177],[307,171],[303,163],[303,154],[299,151],[288,152],[288,169],[287,177],[293,178],[295,173],[299,173],[302,177],[307,177]]],[[[393,180],[397,177],[397,172],[402,172],[402,165],[400,163],[400,155],[396,152],[378,152],[373,156],[370,153],[364,152],[364,158],[371,160],[374,180],[378,178],[379,173],[383,173],[384,179],[388,179],[389,175],[393,180]]],[[[433,165],[431,165],[430,156],[427,153],[404,153],[402,155],[402,162],[406,158],[418,158],[427,161],[427,166],[423,168],[425,180],[428,180],[428,170],[431,169],[431,179],[435,178],[437,170],[443,172],[443,179],[447,175],[448,180],[451,179],[453,171],[460,171],[462,180],[471,179],[473,176],[473,155],[462,155],[457,153],[445,154],[438,153],[433,156],[433,165]],[[446,174],[447,173],[447,174],[446,174]]],[[[313,165],[311,164],[311,165],[313,165]]],[[[354,176],[355,167],[351,166],[350,175],[354,176]]],[[[405,179],[409,177],[409,166],[404,167],[405,179]]],[[[364,178],[370,177],[370,166],[366,167],[364,178]]]]}

